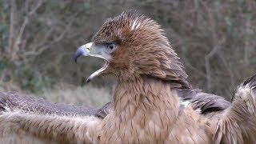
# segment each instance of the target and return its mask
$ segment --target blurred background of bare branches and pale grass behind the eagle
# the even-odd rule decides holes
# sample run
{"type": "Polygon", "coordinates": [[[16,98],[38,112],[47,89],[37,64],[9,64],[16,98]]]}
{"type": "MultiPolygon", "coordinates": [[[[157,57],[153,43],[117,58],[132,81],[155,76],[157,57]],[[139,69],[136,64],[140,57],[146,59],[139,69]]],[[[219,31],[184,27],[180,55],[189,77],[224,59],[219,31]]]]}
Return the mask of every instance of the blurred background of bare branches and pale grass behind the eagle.
{"type": "Polygon", "coordinates": [[[111,78],[84,79],[98,59],[72,61],[106,18],[135,9],[166,31],[194,88],[230,99],[256,74],[255,0],[0,0],[0,90],[86,106],[110,100],[111,78]]]}

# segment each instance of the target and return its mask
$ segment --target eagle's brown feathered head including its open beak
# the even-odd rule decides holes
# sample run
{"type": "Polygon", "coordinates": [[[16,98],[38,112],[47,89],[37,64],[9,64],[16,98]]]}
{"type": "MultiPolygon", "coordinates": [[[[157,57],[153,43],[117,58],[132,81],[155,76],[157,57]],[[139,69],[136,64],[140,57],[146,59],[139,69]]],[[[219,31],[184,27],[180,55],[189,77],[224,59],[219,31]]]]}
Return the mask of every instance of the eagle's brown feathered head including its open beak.
{"type": "Polygon", "coordinates": [[[106,62],[87,82],[101,74],[112,74],[120,81],[142,76],[165,80],[186,78],[158,23],[133,11],[107,19],[92,42],[78,48],[74,60],[82,55],[103,58],[106,62]]]}

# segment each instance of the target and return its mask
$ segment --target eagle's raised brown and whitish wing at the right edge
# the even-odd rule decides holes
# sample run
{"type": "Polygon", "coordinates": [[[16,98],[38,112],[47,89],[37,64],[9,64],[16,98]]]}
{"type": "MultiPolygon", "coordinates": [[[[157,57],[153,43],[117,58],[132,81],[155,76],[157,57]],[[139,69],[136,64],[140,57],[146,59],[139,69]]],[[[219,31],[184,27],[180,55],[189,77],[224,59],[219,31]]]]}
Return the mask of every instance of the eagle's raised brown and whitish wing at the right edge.
{"type": "Polygon", "coordinates": [[[256,142],[256,75],[243,82],[234,94],[215,130],[215,142],[256,142]]]}

